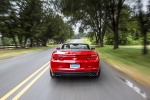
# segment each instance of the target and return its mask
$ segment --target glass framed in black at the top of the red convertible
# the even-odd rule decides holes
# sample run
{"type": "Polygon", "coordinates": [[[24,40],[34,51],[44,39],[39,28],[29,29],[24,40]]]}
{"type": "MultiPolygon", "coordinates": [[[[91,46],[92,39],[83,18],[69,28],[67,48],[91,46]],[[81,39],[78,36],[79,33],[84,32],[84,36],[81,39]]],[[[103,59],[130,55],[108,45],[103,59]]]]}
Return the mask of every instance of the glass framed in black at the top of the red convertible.
{"type": "Polygon", "coordinates": [[[88,44],[64,44],[61,49],[90,49],[88,44]]]}

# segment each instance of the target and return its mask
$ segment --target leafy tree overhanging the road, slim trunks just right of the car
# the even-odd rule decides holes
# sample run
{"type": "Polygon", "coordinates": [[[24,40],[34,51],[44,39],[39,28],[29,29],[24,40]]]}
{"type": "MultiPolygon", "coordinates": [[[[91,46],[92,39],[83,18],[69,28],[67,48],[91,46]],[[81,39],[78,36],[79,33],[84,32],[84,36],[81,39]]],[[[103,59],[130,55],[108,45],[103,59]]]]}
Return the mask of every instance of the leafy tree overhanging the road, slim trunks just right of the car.
{"type": "Polygon", "coordinates": [[[104,0],[54,0],[56,8],[71,19],[72,23],[80,22],[82,29],[92,30],[96,43],[103,46],[107,28],[104,0]]]}

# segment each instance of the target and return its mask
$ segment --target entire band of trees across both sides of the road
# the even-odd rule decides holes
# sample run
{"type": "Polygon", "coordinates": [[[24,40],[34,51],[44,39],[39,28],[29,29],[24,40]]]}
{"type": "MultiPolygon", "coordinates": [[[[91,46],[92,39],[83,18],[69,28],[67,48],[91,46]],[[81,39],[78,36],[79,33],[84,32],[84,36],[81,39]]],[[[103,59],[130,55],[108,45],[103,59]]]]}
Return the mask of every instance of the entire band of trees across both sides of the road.
{"type": "Polygon", "coordinates": [[[16,47],[46,46],[50,39],[63,43],[74,36],[71,25],[81,23],[79,36],[104,44],[150,44],[150,0],[3,0],[0,1],[0,33],[16,47]],[[68,21],[64,21],[64,17],[68,21]],[[84,32],[88,32],[87,35],[84,32]],[[30,42],[30,43],[28,43],[30,42]]]}

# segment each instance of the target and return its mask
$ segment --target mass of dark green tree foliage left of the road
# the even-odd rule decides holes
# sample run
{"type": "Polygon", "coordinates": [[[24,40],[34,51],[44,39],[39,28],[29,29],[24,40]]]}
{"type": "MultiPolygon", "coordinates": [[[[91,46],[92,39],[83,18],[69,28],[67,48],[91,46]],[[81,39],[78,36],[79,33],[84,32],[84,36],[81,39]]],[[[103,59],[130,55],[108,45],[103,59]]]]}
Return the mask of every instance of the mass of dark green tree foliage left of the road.
{"type": "Polygon", "coordinates": [[[35,42],[37,46],[46,46],[49,39],[65,41],[73,36],[72,27],[51,6],[49,0],[0,1],[0,32],[3,38],[25,47],[27,41],[30,46],[34,46],[35,42]]]}

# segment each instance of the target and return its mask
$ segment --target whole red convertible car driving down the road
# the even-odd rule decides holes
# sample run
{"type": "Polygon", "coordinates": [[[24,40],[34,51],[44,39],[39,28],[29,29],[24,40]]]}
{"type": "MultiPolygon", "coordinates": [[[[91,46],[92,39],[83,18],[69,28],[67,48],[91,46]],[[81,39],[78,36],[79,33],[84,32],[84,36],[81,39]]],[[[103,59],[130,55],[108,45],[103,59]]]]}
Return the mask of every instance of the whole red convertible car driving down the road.
{"type": "Polygon", "coordinates": [[[100,76],[100,58],[84,43],[67,43],[52,53],[50,76],[100,76]]]}

